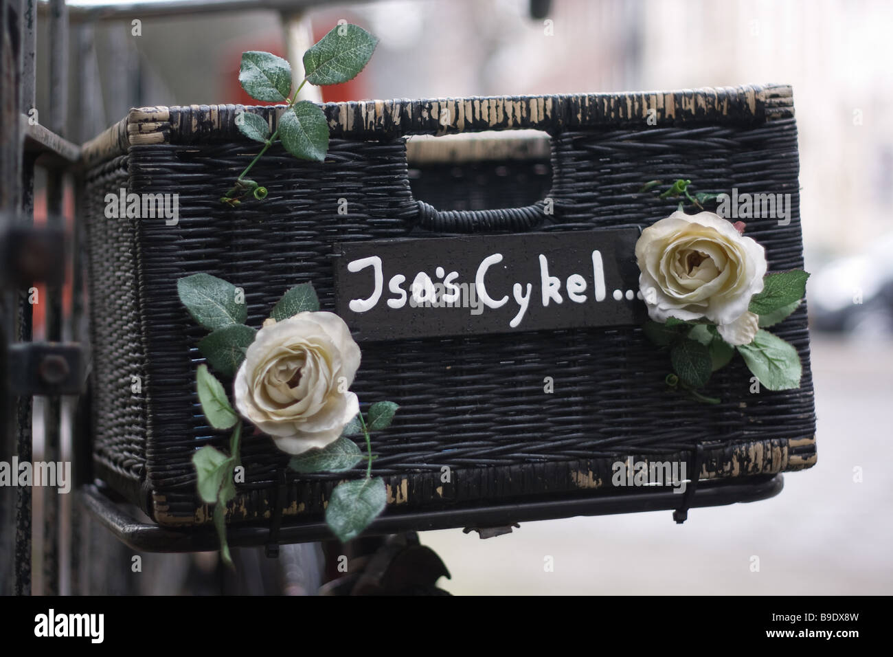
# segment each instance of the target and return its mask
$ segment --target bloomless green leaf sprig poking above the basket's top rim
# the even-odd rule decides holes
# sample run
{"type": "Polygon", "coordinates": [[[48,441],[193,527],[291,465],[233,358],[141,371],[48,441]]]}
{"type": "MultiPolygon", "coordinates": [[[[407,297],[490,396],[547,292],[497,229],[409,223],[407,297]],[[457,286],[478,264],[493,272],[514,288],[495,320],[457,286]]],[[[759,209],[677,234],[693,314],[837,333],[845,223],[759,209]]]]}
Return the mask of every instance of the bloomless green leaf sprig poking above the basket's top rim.
{"type": "Polygon", "coordinates": [[[307,82],[324,87],[353,80],[363,71],[377,45],[378,39],[365,29],[351,23],[338,25],[305,52],[305,77],[294,92],[288,61],[271,53],[242,53],[238,81],[247,94],[256,100],[284,102],[288,106],[272,134],[266,120],[258,114],[238,114],[238,131],[248,139],[262,143],[263,148],[239,174],[221,202],[238,206],[249,194],[258,200],[267,197],[267,188],[246,176],[274,143],[281,143],[289,153],[302,160],[322,162],[325,159],[329,151],[326,115],[319,105],[309,100],[299,101],[297,96],[307,82]]]}

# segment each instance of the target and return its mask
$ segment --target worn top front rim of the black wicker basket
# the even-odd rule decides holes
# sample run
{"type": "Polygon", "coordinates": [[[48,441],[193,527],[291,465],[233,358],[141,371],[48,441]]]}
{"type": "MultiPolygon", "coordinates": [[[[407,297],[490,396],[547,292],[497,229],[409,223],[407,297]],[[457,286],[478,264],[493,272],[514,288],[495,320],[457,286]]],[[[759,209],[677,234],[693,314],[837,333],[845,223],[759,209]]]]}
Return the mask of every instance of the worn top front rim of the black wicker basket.
{"type": "MultiPolygon", "coordinates": [[[[628,126],[654,129],[692,123],[763,123],[794,116],[788,84],[704,87],[671,91],[602,92],[323,103],[335,137],[382,139],[446,134],[628,126]],[[653,111],[652,111],[653,110],[653,111]],[[444,118],[446,114],[446,119],[444,118]]],[[[158,105],[134,107],[81,149],[92,166],[125,155],[131,146],[245,139],[234,118],[260,114],[271,131],[286,105],[158,105]]]]}

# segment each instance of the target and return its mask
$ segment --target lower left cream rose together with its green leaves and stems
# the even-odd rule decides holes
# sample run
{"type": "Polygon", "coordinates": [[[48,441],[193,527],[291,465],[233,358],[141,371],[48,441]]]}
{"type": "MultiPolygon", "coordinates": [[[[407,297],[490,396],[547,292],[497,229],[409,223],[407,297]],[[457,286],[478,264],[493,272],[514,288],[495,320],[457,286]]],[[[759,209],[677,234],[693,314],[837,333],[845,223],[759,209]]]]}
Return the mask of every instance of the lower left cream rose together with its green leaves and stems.
{"type": "MultiPolygon", "coordinates": [[[[286,291],[263,327],[246,326],[243,291],[209,274],[177,282],[179,299],[198,324],[210,331],[198,349],[220,375],[234,376],[233,404],[208,366],[196,370],[202,413],[213,429],[230,430],[230,452],[210,445],[197,450],[198,494],[213,504],[221,558],[232,565],[226,539],[226,505],[236,496],[241,469],[243,423],[271,436],[292,457],[296,473],[339,473],[366,459],[363,478],[336,485],[326,507],[326,524],[342,542],[360,535],[385,509],[387,491],[373,477],[370,432],[388,428],[397,405],[379,401],[366,416],[349,388],[360,366],[360,348],[344,321],[321,311],[312,283],[286,291]],[[363,436],[366,455],[352,436],[363,436]]],[[[247,439],[250,439],[247,438],[247,439]]]]}

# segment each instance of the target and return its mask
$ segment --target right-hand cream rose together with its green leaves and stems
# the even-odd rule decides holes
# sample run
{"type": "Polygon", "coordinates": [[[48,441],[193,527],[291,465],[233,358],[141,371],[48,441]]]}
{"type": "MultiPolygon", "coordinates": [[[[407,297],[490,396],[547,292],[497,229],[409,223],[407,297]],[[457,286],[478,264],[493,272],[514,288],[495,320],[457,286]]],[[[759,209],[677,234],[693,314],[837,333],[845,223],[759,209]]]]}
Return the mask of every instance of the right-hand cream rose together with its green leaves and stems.
{"type": "MultiPolygon", "coordinates": [[[[661,198],[684,196],[700,206],[721,196],[691,197],[689,184],[676,181],[661,198]]],[[[681,205],[644,229],[636,243],[639,291],[650,316],[642,330],[669,352],[672,374],[666,383],[695,400],[719,403],[701,391],[738,352],[767,390],[799,388],[803,366],[797,350],[765,329],[799,307],[809,274],[767,274],[764,248],[744,236],[744,222],[712,212],[687,215],[681,205]]]]}

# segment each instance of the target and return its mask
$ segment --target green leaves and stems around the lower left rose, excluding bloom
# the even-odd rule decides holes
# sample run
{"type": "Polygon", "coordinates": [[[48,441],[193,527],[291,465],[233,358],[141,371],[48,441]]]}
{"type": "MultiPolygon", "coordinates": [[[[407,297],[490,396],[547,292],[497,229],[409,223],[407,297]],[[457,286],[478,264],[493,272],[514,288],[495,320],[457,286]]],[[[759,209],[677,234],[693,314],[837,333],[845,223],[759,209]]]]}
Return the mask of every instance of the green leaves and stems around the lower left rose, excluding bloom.
{"type": "MultiPolygon", "coordinates": [[[[247,308],[244,293],[230,282],[210,274],[193,274],[177,282],[179,299],[196,323],[210,333],[198,343],[207,362],[221,375],[231,377],[245,359],[246,350],[255,340],[256,331],[244,323],[247,308]]],[[[286,291],[272,307],[277,322],[298,313],[320,309],[312,283],[301,283],[286,291]]],[[[218,430],[232,430],[229,454],[205,445],[193,455],[199,497],[213,505],[213,523],[221,543],[221,559],[232,566],[226,535],[226,506],[236,496],[237,467],[241,465],[240,445],[243,423],[232,408],[223,384],[208,369],[196,369],[196,392],[208,424],[218,430]]],[[[332,490],[325,520],[332,532],[345,543],[360,535],[387,506],[387,488],[381,477],[372,476],[370,434],[388,428],[399,407],[392,401],[371,405],[366,417],[362,411],[354,417],[335,442],[292,457],[289,469],[298,474],[340,473],[353,469],[366,459],[365,476],[345,481],[332,490]],[[366,454],[350,436],[363,434],[366,454]]],[[[244,482],[244,478],[242,479],[244,482]]]]}

